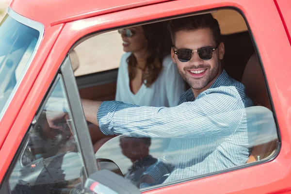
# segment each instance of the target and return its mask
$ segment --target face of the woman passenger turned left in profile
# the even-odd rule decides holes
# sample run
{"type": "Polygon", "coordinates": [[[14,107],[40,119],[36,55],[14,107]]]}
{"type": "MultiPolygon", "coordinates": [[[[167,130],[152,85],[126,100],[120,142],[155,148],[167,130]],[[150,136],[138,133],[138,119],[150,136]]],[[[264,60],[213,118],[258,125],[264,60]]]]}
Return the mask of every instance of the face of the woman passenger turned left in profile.
{"type": "Polygon", "coordinates": [[[129,28],[131,37],[127,37],[125,31],[121,33],[123,50],[125,52],[140,52],[146,50],[147,40],[142,26],[129,28]]]}

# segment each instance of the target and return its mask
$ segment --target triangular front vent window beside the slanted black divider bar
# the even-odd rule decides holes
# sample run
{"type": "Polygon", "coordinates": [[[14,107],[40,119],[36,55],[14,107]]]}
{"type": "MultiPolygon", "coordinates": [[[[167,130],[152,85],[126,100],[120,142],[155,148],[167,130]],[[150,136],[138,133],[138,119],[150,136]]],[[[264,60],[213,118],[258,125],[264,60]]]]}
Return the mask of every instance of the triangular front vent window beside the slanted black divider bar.
{"type": "MultiPolygon", "coordinates": [[[[49,127],[47,115],[57,110],[54,104],[68,106],[63,79],[58,76],[43,108],[28,131],[21,154],[9,178],[11,193],[69,193],[81,187],[83,162],[69,108],[65,119],[49,127]]],[[[80,188],[79,188],[80,189],[80,188]]]]}

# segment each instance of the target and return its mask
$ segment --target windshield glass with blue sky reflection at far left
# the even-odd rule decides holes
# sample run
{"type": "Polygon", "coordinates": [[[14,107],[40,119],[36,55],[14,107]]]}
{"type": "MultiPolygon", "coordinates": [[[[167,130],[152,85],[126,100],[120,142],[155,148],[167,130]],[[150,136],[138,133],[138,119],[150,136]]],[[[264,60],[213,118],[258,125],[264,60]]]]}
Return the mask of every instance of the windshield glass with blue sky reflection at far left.
{"type": "Polygon", "coordinates": [[[29,65],[39,34],[8,15],[0,23],[0,113],[29,65]]]}

